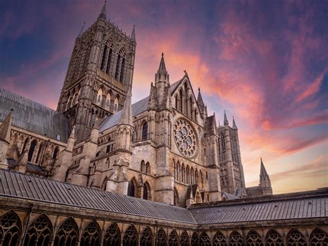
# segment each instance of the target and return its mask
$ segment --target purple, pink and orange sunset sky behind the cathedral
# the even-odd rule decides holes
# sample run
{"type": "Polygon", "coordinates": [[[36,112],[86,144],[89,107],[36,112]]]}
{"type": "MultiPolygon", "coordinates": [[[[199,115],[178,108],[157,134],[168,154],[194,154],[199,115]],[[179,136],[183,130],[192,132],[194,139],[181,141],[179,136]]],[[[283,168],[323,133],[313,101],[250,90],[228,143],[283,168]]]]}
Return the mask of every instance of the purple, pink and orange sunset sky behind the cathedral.
{"type": "MultiPolygon", "coordinates": [[[[1,1],[0,87],[55,109],[83,22],[103,0],[1,1]]],[[[107,1],[136,24],[133,101],[149,94],[161,52],[170,82],[201,88],[208,113],[233,116],[246,186],[262,157],[274,193],[328,186],[328,1],[107,1]]]]}

